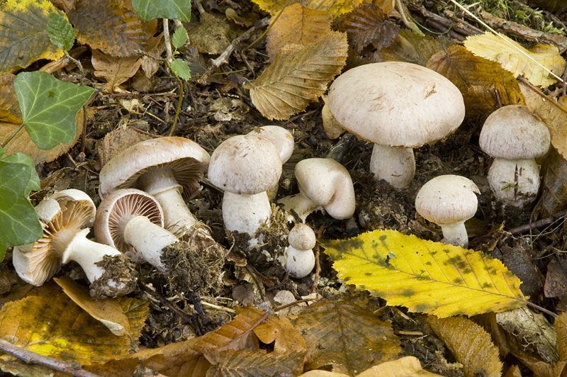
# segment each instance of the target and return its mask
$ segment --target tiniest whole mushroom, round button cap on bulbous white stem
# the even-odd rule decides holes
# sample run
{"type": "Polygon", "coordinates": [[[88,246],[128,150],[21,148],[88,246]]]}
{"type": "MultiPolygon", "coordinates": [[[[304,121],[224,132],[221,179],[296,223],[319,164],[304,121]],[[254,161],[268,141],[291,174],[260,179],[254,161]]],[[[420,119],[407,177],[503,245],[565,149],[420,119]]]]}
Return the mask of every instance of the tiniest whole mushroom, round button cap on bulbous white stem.
{"type": "Polygon", "coordinates": [[[288,235],[285,252],[286,271],[294,278],[308,276],[315,266],[315,232],[308,225],[296,224],[288,235]]]}

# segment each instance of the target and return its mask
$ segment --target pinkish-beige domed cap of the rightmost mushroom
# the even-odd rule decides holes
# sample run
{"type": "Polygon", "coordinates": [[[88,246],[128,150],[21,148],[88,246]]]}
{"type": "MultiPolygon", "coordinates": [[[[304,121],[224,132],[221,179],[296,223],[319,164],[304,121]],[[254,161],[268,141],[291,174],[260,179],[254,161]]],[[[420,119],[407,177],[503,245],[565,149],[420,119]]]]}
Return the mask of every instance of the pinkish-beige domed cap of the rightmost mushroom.
{"type": "Polygon", "coordinates": [[[527,106],[509,105],[486,118],[478,144],[486,154],[500,159],[534,159],[549,150],[547,125],[527,106]]]}

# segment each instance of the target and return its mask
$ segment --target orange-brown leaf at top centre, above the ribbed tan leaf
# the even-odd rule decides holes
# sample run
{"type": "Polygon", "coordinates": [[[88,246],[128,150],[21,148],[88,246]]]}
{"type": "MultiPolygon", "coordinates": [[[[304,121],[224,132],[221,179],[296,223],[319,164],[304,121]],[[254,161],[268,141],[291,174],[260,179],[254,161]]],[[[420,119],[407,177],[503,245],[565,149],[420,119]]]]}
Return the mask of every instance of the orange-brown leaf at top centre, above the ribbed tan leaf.
{"type": "Polygon", "coordinates": [[[317,43],[331,32],[332,14],[328,11],[313,11],[293,4],[283,10],[278,21],[268,32],[266,51],[270,62],[285,45],[309,45],[317,43]]]}

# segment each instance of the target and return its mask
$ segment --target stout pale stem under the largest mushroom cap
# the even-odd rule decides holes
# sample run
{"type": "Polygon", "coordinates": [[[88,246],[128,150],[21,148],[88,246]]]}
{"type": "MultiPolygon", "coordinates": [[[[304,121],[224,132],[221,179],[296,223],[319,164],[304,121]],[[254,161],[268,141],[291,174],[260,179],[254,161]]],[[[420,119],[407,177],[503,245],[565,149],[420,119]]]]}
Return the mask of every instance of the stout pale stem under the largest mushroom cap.
{"type": "Polygon", "coordinates": [[[410,186],[415,174],[415,157],[412,148],[374,144],[370,171],[378,179],[384,179],[395,188],[410,186]]]}

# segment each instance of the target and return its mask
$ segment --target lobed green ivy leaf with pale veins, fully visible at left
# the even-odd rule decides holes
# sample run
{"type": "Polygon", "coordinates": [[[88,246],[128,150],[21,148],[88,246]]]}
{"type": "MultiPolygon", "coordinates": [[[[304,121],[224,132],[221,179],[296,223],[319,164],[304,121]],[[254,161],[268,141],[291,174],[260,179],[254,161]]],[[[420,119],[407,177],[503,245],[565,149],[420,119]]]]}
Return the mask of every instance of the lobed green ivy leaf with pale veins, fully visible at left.
{"type": "Polygon", "coordinates": [[[75,117],[95,91],[39,71],[19,73],[13,86],[26,131],[42,150],[73,140],[75,117]]]}

